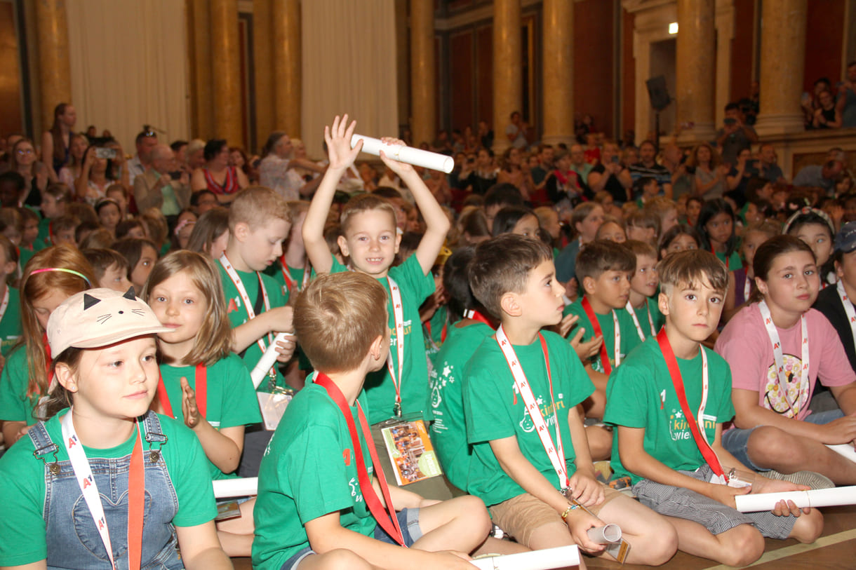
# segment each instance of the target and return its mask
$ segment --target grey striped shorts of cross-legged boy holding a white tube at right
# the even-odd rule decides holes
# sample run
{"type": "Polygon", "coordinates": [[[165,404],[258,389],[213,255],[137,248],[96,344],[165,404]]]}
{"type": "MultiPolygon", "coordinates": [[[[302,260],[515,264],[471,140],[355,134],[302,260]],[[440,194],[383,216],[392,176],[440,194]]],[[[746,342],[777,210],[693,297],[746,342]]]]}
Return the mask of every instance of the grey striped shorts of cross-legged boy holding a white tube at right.
{"type": "MultiPolygon", "coordinates": [[[[699,481],[710,481],[713,475],[713,471],[706,465],[699,467],[697,471],[678,472],[699,481]]],[[[711,534],[722,534],[738,525],[753,525],[764,537],[784,539],[794,530],[797,521],[794,516],[777,517],[769,511],[740,513],[735,508],[693,490],[654,483],[649,479],[642,479],[633,485],[633,493],[645,507],[667,517],[693,520],[703,525],[711,534]]]]}

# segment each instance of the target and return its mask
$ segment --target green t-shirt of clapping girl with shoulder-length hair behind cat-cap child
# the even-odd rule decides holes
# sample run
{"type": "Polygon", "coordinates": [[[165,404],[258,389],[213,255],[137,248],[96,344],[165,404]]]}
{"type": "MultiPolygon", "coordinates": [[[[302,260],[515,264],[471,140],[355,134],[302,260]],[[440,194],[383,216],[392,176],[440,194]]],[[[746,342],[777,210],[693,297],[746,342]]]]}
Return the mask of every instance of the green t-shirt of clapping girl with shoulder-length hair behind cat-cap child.
{"type": "MultiPolygon", "coordinates": [[[[172,413],[179,421],[184,420],[181,413],[181,378],[196,389],[196,366],[160,365],[163,385],[169,396],[172,413]]],[[[253,381],[247,367],[237,354],[229,354],[208,366],[205,375],[205,419],[215,429],[235,427],[235,425],[258,424],[262,421],[259,400],[253,389],[253,381]]],[[[223,473],[209,461],[211,477],[215,479],[235,478],[237,473],[223,473]]]]}

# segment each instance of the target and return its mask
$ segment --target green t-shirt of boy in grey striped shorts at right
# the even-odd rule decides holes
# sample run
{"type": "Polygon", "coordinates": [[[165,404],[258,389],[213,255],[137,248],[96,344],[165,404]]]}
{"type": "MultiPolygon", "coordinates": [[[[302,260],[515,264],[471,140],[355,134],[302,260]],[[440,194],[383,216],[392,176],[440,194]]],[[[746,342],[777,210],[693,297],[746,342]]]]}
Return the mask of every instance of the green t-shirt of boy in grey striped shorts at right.
{"type": "MultiPolygon", "coordinates": [[[[708,364],[708,396],[704,406],[704,432],[713,442],[716,424],[734,418],[731,403],[731,369],[722,356],[704,348],[708,364]]],[[[687,404],[698,416],[701,403],[701,353],[693,359],[677,359],[687,394],[687,404]]],[[[621,366],[609,376],[606,388],[606,413],[603,421],[631,428],[645,428],[643,447],[654,459],[671,469],[694,471],[704,465],[690,431],[675,385],[663,359],[657,338],[650,338],[627,355],[621,366]]],[[[697,418],[698,419],[698,418],[697,418]]],[[[629,475],[633,484],[641,477],[621,465],[618,454],[618,430],[614,431],[612,468],[616,477],[629,475]]]]}

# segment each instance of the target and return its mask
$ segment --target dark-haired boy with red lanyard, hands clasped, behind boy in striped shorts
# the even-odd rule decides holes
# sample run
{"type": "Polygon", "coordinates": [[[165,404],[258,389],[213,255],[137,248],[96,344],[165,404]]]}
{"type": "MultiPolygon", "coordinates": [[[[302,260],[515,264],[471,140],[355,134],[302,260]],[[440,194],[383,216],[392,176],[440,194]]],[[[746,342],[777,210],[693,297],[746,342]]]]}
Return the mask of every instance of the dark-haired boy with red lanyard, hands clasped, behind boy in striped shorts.
{"type": "Polygon", "coordinates": [[[592,241],[577,256],[577,279],[585,294],[568,305],[565,314],[580,318],[577,325],[586,329],[582,341],[603,338],[583,358],[596,389],[585,405],[588,418],[603,418],[609,373],[639,344],[633,318],[624,308],[630,299],[630,278],[635,269],[633,252],[612,241],[592,241]]]}

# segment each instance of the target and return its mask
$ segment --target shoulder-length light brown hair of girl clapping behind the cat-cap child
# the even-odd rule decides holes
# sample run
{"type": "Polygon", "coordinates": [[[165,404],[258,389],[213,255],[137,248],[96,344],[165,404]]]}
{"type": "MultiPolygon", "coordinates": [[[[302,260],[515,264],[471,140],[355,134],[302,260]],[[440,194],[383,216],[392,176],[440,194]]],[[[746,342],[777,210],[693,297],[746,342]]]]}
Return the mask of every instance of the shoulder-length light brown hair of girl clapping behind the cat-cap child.
{"type": "Polygon", "coordinates": [[[226,316],[226,301],[223,297],[223,283],[220,274],[214,266],[214,261],[207,255],[189,252],[186,249],[169,252],[158,260],[152,268],[140,298],[150,303],[152,289],[181,271],[187,271],[193,287],[205,297],[208,310],[205,321],[199,328],[196,341],[190,353],[184,357],[186,363],[203,362],[211,366],[217,360],[229,356],[232,351],[232,325],[226,316]]]}

